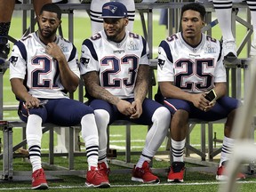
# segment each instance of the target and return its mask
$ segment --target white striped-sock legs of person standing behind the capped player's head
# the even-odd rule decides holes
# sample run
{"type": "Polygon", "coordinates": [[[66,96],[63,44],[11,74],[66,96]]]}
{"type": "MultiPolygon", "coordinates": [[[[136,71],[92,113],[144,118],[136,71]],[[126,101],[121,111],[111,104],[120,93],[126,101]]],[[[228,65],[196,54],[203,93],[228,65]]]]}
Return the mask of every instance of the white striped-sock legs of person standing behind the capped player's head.
{"type": "MultiPolygon", "coordinates": [[[[127,30],[132,31],[133,22],[135,18],[135,4],[134,0],[116,0],[126,6],[129,23],[127,25],[127,30]]],[[[92,35],[103,29],[103,20],[100,18],[102,14],[102,5],[110,2],[110,0],[92,0],[90,6],[90,18],[91,18],[91,28],[92,35]]]]}

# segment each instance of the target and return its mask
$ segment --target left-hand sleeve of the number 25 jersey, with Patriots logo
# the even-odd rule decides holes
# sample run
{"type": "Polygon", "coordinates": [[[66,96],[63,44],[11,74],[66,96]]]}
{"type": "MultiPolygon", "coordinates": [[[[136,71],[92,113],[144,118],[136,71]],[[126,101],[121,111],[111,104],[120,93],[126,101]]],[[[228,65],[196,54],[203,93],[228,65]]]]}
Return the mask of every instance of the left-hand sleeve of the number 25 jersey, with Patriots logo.
{"type": "Polygon", "coordinates": [[[173,82],[173,64],[171,56],[171,50],[169,44],[166,41],[162,41],[158,47],[158,59],[157,59],[157,81],[158,82],[173,82]]]}

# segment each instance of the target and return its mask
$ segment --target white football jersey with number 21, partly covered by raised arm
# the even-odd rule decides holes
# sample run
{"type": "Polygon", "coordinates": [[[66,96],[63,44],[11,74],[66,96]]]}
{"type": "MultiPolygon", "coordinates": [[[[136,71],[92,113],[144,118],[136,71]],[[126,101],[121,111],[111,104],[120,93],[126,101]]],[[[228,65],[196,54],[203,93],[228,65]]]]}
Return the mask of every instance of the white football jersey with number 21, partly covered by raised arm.
{"type": "MultiPolygon", "coordinates": [[[[61,36],[57,36],[55,43],[64,53],[68,67],[80,77],[78,54],[74,44],[61,36]]],[[[10,58],[10,79],[24,79],[28,92],[36,98],[68,98],[60,82],[58,62],[45,52],[45,46],[36,32],[14,44],[10,58]]]]}

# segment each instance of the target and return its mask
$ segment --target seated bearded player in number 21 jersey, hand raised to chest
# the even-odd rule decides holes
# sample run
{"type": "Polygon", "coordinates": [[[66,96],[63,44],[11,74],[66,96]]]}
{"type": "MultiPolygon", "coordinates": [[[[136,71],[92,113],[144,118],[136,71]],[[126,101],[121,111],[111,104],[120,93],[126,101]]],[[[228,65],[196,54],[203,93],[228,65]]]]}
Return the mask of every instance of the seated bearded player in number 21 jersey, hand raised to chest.
{"type": "Polygon", "coordinates": [[[93,109],[68,98],[68,92],[76,91],[80,71],[76,47],[56,35],[61,23],[59,6],[44,4],[37,23],[36,32],[14,44],[10,58],[12,92],[20,100],[20,119],[27,123],[32,188],[48,188],[41,164],[44,123],[81,124],[88,161],[86,180],[95,187],[109,187],[108,179],[98,170],[99,137],[93,109]]]}

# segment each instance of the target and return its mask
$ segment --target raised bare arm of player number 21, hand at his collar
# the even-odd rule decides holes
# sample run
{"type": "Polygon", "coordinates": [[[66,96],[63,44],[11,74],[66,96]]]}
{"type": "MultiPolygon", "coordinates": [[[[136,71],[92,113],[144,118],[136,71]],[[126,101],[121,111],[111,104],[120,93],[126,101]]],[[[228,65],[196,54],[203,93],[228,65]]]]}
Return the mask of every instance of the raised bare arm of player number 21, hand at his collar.
{"type": "Polygon", "coordinates": [[[58,60],[61,84],[68,92],[75,92],[79,84],[79,77],[68,67],[68,61],[60,50],[60,47],[55,43],[49,43],[47,44],[46,52],[55,60],[58,60]]]}

